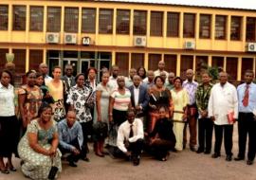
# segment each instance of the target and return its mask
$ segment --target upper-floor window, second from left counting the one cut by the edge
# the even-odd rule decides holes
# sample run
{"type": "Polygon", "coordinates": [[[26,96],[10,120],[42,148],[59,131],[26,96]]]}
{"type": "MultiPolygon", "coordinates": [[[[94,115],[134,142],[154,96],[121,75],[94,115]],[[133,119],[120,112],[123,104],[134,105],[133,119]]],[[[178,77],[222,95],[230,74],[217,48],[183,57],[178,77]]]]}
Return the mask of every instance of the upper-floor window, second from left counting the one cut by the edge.
{"type": "Polygon", "coordinates": [[[26,30],[26,6],[13,6],[12,29],[26,30]]]}

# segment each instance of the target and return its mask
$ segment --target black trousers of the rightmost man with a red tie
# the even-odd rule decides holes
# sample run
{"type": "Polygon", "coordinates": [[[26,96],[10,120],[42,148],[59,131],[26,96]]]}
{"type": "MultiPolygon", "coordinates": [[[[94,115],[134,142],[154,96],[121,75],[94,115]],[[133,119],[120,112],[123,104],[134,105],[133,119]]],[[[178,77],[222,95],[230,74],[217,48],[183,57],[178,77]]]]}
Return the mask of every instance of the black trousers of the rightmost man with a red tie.
{"type": "Polygon", "coordinates": [[[254,160],[256,152],[256,120],[252,113],[239,113],[238,117],[238,156],[244,158],[247,146],[248,135],[248,153],[247,158],[254,160]]]}

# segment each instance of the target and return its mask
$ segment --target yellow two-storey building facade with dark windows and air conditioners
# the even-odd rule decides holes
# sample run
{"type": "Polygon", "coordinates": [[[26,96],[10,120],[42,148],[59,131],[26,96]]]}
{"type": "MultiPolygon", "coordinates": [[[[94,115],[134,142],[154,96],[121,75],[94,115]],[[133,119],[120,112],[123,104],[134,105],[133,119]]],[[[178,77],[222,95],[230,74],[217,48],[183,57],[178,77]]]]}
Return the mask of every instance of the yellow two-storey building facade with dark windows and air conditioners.
{"type": "Polygon", "coordinates": [[[1,0],[0,66],[14,54],[18,73],[48,63],[75,73],[118,64],[184,76],[198,64],[220,66],[233,81],[256,66],[256,9],[111,1],[1,0]]]}

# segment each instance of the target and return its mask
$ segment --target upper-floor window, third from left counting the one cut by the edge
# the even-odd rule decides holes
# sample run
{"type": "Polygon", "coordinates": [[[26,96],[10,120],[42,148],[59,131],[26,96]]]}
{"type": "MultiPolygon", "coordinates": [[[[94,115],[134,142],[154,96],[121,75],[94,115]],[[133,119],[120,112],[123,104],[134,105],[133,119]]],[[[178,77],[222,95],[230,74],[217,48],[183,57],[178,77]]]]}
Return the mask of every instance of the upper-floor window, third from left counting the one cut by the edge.
{"type": "Polygon", "coordinates": [[[44,7],[30,7],[31,31],[43,31],[44,27],[44,7]]]}

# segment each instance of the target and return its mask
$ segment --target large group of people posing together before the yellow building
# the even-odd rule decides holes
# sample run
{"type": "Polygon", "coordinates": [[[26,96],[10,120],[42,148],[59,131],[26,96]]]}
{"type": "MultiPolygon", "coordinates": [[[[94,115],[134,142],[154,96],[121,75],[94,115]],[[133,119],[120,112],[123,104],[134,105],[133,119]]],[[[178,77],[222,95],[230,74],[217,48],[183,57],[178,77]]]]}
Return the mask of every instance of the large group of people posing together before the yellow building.
{"type": "Polygon", "coordinates": [[[62,171],[62,159],[77,167],[79,159],[89,161],[89,138],[100,157],[106,154],[106,147],[111,155],[123,156],[135,166],[143,151],[166,161],[171,151],[186,148],[188,126],[191,151],[206,154],[211,153],[214,128],[212,158],[221,154],[224,133],[226,160],[230,161],[235,121],[239,130],[235,160],[245,159],[248,134],[247,165],[253,164],[256,85],[251,70],[236,89],[226,72],[219,73],[215,84],[203,72],[198,84],[192,69],[186,71],[183,81],[166,72],[162,61],[156,71],[131,68],[129,77],[119,76],[117,65],[111,72],[103,68],[101,82],[96,80],[94,67],[87,69],[87,75],[74,77],[71,64],[65,65],[64,76],[56,66],[51,78],[46,63],[41,63],[38,72],[28,71],[24,84],[15,87],[13,65],[6,65],[0,73],[2,173],[16,171],[12,153],[21,158],[21,170],[32,179],[46,179],[52,167],[62,171]]]}

